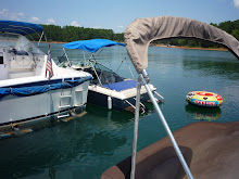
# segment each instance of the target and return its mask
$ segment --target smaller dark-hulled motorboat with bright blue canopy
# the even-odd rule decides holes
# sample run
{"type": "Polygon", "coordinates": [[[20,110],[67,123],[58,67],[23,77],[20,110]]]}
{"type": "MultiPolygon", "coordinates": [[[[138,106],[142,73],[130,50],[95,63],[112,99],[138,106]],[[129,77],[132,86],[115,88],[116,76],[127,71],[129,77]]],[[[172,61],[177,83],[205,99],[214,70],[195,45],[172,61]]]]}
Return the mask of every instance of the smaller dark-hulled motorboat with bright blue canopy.
{"type": "MultiPolygon", "coordinates": [[[[120,76],[118,74],[114,73],[112,69],[108,68],[97,61],[97,56],[99,55],[99,53],[96,54],[96,52],[98,52],[99,49],[102,50],[102,48],[112,46],[125,47],[124,43],[115,42],[108,39],[91,39],[65,43],[63,46],[63,49],[64,52],[65,49],[76,49],[91,53],[89,59],[83,59],[78,64],[72,65],[72,68],[88,72],[93,76],[93,80],[91,80],[89,85],[89,94],[87,100],[88,103],[105,106],[109,110],[113,108],[117,111],[125,110],[134,112],[137,93],[137,81],[120,76]]],[[[71,62],[68,55],[66,54],[65,56],[67,62],[71,62]]],[[[155,95],[160,95],[155,91],[156,88],[154,86],[149,86],[151,91],[153,91],[155,95]]],[[[146,88],[141,88],[140,94],[141,102],[146,102],[149,100],[146,88]]],[[[146,111],[146,106],[142,103],[140,103],[140,110],[142,113],[144,113],[146,111]]]]}

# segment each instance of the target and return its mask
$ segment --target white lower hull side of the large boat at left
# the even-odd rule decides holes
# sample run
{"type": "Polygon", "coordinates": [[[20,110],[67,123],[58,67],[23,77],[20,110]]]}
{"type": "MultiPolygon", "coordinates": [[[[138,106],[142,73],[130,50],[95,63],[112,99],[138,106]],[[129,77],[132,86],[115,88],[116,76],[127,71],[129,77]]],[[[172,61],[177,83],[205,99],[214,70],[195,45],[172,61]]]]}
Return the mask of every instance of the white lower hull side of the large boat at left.
{"type": "Polygon", "coordinates": [[[50,90],[45,93],[15,97],[7,95],[0,101],[0,125],[42,118],[51,114],[61,113],[68,108],[83,106],[87,102],[89,80],[67,89],[50,90]],[[70,98],[61,98],[72,95],[70,98]],[[70,105],[67,107],[60,107],[70,105]]]}

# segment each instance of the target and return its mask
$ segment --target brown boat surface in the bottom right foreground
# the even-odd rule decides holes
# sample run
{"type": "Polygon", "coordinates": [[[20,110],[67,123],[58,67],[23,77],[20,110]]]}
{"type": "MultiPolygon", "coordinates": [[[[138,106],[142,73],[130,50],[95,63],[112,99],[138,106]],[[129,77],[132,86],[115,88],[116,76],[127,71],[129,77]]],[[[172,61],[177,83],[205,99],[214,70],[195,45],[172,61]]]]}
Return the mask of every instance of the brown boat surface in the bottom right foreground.
{"type": "MultiPolygon", "coordinates": [[[[192,176],[199,179],[238,178],[239,122],[190,124],[174,132],[192,176]]],[[[102,174],[101,179],[129,178],[128,157],[102,174]]],[[[166,137],[137,153],[136,178],[187,178],[166,137]]]]}

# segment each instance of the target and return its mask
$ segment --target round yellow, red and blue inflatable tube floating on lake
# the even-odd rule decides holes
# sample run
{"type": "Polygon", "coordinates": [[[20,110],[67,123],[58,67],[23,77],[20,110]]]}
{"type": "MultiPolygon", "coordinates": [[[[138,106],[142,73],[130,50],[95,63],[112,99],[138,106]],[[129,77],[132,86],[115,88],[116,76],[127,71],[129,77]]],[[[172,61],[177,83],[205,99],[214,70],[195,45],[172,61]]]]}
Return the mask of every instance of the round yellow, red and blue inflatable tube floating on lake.
{"type": "Polygon", "coordinates": [[[221,95],[207,91],[191,91],[187,94],[186,101],[203,107],[219,107],[223,104],[221,95]]]}

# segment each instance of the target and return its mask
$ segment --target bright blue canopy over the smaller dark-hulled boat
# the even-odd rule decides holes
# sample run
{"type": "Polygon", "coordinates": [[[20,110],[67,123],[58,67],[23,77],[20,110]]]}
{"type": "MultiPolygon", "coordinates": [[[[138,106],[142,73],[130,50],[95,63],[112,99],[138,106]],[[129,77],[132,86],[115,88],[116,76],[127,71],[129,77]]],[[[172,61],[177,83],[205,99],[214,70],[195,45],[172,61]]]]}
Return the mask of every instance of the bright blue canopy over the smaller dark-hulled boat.
{"type": "Polygon", "coordinates": [[[90,39],[90,40],[81,40],[81,41],[72,41],[70,43],[63,44],[63,48],[80,49],[93,53],[97,52],[100,48],[117,46],[117,44],[125,47],[125,43],[118,43],[108,39],[90,39]]]}

